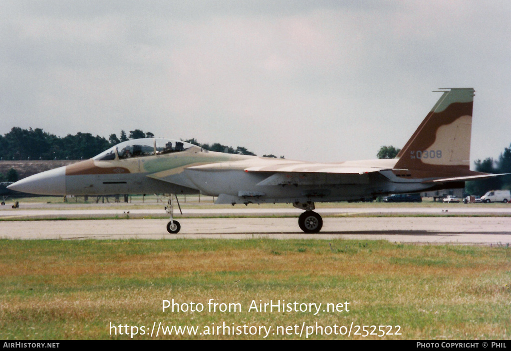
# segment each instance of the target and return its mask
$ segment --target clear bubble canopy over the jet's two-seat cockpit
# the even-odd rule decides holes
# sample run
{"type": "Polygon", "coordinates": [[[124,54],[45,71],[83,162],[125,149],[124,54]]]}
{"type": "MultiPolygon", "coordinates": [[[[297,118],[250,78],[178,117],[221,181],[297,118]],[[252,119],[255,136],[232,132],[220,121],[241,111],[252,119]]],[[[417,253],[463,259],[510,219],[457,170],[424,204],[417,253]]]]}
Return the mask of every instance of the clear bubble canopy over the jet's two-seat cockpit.
{"type": "Polygon", "coordinates": [[[178,153],[193,146],[195,145],[172,139],[133,139],[112,146],[92,159],[96,161],[123,160],[132,157],[178,153]]]}

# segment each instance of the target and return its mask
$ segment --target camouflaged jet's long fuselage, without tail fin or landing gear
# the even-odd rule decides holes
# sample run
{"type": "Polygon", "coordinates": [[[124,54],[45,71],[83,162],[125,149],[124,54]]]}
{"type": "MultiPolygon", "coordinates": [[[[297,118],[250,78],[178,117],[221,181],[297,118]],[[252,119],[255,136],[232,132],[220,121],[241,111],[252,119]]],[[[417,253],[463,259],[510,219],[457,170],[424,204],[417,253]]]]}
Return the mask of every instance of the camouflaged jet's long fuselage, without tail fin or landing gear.
{"type": "Polygon", "coordinates": [[[311,163],[211,152],[175,140],[136,139],[95,158],[32,175],[14,190],[45,195],[200,192],[220,196],[218,203],[236,204],[333,202],[431,187],[423,179],[400,177],[392,170],[396,162],[311,163]]]}

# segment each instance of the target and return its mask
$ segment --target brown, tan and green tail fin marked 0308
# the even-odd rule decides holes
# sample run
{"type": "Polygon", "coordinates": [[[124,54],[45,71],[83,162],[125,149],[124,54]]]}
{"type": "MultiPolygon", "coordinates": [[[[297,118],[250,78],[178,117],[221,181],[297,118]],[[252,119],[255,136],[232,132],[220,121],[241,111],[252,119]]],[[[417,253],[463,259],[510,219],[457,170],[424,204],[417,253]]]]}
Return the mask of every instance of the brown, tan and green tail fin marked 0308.
{"type": "Polygon", "coordinates": [[[470,172],[475,91],[473,88],[450,88],[442,92],[399,152],[395,168],[459,175],[470,172]]]}

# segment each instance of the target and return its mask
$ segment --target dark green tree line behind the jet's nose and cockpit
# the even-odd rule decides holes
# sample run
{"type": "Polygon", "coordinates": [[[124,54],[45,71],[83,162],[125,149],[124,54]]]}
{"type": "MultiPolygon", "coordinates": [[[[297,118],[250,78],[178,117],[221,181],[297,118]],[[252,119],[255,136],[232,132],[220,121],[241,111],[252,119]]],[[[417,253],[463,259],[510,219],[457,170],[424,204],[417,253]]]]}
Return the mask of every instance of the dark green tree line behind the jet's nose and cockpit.
{"type": "MultiPolygon", "coordinates": [[[[106,139],[99,135],[93,136],[90,133],[80,132],[75,135],[68,134],[65,137],[58,137],[44,132],[40,128],[14,127],[9,133],[0,135],[0,160],[85,160],[120,142],[153,137],[153,133],[140,129],[129,131],[129,134],[121,131],[119,137],[117,134],[110,134],[106,139]]],[[[242,146],[235,148],[220,143],[200,144],[195,138],[182,141],[201,146],[209,151],[256,156],[242,146]]],[[[275,157],[273,155],[264,156],[275,157]]]]}

